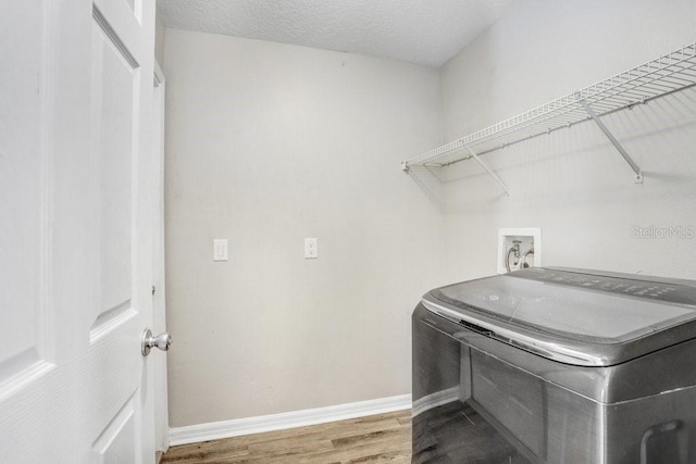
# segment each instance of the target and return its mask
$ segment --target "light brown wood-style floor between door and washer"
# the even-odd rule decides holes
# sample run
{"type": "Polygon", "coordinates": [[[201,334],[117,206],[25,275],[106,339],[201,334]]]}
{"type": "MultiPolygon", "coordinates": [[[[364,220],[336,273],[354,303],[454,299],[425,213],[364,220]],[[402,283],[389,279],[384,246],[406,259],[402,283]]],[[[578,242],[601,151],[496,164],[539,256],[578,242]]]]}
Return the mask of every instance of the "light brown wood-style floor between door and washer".
{"type": "Polygon", "coordinates": [[[172,447],[163,464],[411,462],[411,411],[172,447]]]}

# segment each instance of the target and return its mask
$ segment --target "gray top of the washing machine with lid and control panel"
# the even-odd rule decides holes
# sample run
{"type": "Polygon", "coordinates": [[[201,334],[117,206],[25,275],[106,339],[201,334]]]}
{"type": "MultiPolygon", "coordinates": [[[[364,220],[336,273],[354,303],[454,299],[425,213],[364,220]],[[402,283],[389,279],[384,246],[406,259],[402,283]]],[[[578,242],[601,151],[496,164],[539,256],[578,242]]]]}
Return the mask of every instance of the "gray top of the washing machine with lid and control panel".
{"type": "Polygon", "coordinates": [[[696,338],[696,281],[529,268],[442,287],[430,311],[545,358],[614,365],[696,338]]]}

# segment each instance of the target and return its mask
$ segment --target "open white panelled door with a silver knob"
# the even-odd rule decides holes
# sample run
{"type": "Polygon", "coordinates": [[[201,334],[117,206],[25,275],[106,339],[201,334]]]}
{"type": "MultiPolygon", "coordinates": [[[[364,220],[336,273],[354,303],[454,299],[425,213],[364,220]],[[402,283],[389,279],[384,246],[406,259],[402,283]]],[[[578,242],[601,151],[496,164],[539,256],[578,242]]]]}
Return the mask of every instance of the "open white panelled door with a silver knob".
{"type": "Polygon", "coordinates": [[[154,2],[0,1],[0,463],[150,463],[154,2]]]}

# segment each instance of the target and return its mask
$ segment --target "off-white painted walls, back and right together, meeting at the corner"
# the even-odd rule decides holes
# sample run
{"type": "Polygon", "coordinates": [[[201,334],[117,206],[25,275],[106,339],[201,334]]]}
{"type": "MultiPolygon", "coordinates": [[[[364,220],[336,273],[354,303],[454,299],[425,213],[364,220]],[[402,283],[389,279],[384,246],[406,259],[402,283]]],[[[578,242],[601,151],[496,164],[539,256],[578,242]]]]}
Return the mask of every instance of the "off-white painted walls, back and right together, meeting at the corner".
{"type": "Polygon", "coordinates": [[[485,155],[511,198],[473,162],[443,191],[398,170],[693,41],[694,17],[691,0],[519,0],[439,74],[167,29],[171,425],[409,392],[413,304],[494,274],[500,227],[542,227],[545,265],[696,278],[696,239],[633,233],[696,226],[695,90],[607,117],[643,185],[592,123],[485,155]]]}

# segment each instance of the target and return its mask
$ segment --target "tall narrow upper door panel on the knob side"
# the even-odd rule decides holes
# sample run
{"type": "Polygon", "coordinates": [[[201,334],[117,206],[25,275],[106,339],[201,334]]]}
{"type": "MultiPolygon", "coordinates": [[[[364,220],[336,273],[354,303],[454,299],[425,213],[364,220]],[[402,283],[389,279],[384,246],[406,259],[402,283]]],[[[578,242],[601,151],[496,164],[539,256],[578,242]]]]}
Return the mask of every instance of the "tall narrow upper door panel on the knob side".
{"type": "Polygon", "coordinates": [[[114,27],[96,8],[94,15],[91,133],[99,180],[96,233],[101,273],[92,317],[101,326],[132,308],[132,177],[140,74],[129,51],[114,42],[119,41],[114,27]]]}

